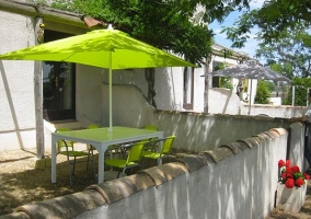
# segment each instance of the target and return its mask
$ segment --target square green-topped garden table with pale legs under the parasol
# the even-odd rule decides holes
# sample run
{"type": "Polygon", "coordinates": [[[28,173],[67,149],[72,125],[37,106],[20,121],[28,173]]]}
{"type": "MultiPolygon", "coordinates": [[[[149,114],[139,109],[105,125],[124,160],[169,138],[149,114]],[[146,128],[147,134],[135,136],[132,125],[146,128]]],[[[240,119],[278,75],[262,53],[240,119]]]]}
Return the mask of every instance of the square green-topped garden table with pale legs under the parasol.
{"type": "Polygon", "coordinates": [[[126,143],[150,138],[163,138],[164,131],[148,130],[140,128],[129,128],[115,126],[113,132],[108,128],[82,129],[65,132],[51,134],[51,183],[56,183],[56,155],[57,155],[57,141],[59,139],[70,140],[73,142],[81,142],[92,145],[99,152],[99,178],[97,183],[104,182],[104,159],[105,151],[108,146],[126,143]]]}

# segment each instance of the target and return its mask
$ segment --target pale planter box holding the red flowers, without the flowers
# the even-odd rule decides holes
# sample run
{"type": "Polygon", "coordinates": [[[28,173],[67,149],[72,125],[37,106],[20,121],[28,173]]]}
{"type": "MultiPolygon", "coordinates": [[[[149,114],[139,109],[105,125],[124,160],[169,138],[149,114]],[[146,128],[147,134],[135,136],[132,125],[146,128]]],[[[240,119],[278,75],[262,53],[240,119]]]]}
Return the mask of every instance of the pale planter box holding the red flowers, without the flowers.
{"type": "Polygon", "coordinates": [[[301,187],[287,188],[278,184],[276,191],[276,208],[291,212],[299,212],[304,205],[307,182],[301,187]]]}

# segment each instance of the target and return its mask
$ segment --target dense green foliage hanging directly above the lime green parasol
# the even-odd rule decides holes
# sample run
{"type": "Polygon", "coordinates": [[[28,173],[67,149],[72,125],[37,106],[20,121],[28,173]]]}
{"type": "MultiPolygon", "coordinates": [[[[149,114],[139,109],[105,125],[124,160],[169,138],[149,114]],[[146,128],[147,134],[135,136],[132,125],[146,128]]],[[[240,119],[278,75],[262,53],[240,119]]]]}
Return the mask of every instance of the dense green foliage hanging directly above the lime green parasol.
{"type": "Polygon", "coordinates": [[[212,31],[189,21],[196,9],[193,1],[55,0],[51,7],[93,16],[197,65],[211,53],[212,31]]]}

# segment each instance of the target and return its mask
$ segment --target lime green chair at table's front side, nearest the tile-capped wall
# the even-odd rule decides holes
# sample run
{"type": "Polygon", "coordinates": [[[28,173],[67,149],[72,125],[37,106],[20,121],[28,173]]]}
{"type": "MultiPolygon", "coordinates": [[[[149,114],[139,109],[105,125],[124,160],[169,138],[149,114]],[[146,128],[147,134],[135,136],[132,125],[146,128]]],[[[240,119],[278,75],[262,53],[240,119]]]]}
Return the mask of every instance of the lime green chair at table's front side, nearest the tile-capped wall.
{"type": "Polygon", "coordinates": [[[141,170],[141,165],[139,164],[141,152],[143,148],[145,141],[136,142],[133,145],[127,146],[127,158],[126,159],[107,159],[105,160],[105,164],[115,168],[118,170],[117,178],[119,176],[119,173],[122,171],[122,176],[125,175],[125,171],[127,169],[133,169],[135,166],[139,166],[141,170]]]}

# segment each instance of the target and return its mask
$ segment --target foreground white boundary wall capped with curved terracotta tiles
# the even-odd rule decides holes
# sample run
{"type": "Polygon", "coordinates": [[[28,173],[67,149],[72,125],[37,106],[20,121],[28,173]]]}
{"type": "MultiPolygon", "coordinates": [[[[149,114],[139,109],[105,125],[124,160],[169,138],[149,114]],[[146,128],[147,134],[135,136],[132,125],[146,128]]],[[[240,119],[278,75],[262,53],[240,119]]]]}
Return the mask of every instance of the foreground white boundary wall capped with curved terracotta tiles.
{"type": "Polygon", "coordinates": [[[273,128],[0,218],[264,218],[274,207],[278,160],[303,162],[292,154],[303,153],[303,129],[293,124],[288,138],[273,128]]]}

